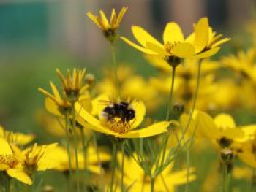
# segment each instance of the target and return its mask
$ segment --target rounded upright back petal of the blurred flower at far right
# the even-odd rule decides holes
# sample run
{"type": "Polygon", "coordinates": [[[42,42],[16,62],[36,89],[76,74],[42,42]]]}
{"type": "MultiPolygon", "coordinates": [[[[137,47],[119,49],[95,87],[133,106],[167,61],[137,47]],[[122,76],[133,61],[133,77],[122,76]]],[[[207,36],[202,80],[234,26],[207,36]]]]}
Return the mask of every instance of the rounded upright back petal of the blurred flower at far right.
{"type": "Polygon", "coordinates": [[[236,123],[233,120],[233,118],[231,117],[231,115],[222,113],[217,115],[214,118],[214,122],[216,123],[218,128],[235,128],[236,127],[236,123]]]}

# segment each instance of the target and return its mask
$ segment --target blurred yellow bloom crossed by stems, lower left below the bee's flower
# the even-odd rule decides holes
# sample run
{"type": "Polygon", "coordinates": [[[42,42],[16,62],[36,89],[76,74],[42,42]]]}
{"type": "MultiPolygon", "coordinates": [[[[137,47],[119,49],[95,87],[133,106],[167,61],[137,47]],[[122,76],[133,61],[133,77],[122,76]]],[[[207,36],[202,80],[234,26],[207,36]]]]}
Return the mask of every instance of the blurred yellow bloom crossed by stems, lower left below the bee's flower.
{"type": "MultiPolygon", "coordinates": [[[[58,159],[56,159],[55,169],[61,172],[69,170],[69,157],[67,154],[67,149],[65,149],[64,147],[56,147],[53,150],[53,153],[58,157],[58,159]]],[[[110,161],[110,158],[111,158],[111,155],[106,153],[104,150],[99,150],[99,159],[101,163],[110,161]]],[[[75,170],[76,169],[75,154],[72,154],[71,160],[72,160],[71,161],[72,169],[75,170]]],[[[97,151],[94,149],[94,147],[88,148],[86,164],[88,165],[86,169],[88,169],[90,172],[94,172],[96,174],[100,173],[97,151]]],[[[78,152],[78,169],[85,169],[84,165],[85,164],[84,164],[83,153],[78,152]]]]}

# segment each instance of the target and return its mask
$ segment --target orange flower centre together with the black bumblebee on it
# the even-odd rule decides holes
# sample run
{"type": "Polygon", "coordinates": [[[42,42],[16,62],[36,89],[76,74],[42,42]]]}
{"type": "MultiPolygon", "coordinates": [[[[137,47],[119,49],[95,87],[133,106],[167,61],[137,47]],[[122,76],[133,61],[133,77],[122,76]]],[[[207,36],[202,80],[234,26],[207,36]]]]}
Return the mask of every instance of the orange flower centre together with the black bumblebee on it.
{"type": "Polygon", "coordinates": [[[135,119],[135,110],[127,102],[110,104],[102,111],[102,119],[110,130],[124,134],[129,131],[135,119]]]}

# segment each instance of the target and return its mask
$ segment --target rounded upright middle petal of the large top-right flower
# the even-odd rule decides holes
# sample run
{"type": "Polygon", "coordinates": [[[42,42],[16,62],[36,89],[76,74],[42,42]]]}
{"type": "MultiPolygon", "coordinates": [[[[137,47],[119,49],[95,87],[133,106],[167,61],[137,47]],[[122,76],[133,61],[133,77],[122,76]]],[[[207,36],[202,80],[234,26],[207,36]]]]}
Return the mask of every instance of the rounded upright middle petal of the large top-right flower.
{"type": "Polygon", "coordinates": [[[183,42],[184,35],[177,23],[170,22],[170,23],[167,23],[167,25],[165,26],[163,39],[164,39],[164,43],[183,42]]]}

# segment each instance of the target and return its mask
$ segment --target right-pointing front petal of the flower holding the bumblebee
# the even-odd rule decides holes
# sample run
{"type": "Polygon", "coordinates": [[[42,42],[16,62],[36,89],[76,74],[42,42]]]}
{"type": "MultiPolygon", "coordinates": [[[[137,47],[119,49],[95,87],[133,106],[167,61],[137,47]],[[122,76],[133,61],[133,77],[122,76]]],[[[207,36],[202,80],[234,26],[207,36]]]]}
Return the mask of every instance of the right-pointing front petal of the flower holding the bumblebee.
{"type": "Polygon", "coordinates": [[[118,137],[121,138],[142,138],[142,137],[151,137],[157,134],[162,134],[167,131],[167,127],[170,125],[168,121],[162,121],[159,123],[154,123],[151,126],[146,128],[141,128],[139,130],[130,131],[127,134],[120,134],[118,137]]]}

